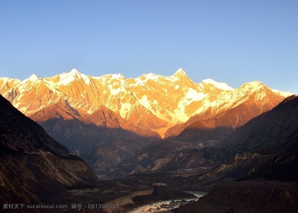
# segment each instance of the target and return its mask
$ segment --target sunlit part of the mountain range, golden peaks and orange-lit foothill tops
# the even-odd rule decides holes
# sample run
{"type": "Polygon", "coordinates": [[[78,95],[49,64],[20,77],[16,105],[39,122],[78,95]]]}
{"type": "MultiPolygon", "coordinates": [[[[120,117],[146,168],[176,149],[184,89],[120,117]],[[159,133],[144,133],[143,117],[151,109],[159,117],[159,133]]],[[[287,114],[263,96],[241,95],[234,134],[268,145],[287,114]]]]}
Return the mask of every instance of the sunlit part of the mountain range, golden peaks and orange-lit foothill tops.
{"type": "Polygon", "coordinates": [[[150,73],[134,79],[126,79],[121,74],[91,77],[73,69],[50,78],[36,75],[24,81],[0,78],[0,85],[1,95],[44,126],[51,136],[59,125],[46,126],[45,121],[63,117],[65,121],[90,124],[94,123],[90,117],[101,111],[103,117],[112,117],[106,121],[100,118],[102,122],[98,120],[96,126],[146,136],[157,136],[154,133],[157,132],[165,138],[178,135],[195,121],[218,118],[227,110],[241,106],[239,113],[245,115],[236,112],[230,121],[235,129],[291,95],[258,81],[243,84],[238,89],[211,79],[195,84],[182,69],[170,77],[150,73]],[[57,108],[60,112],[54,112],[57,108]],[[43,118],[45,113],[47,118],[43,118]]]}

